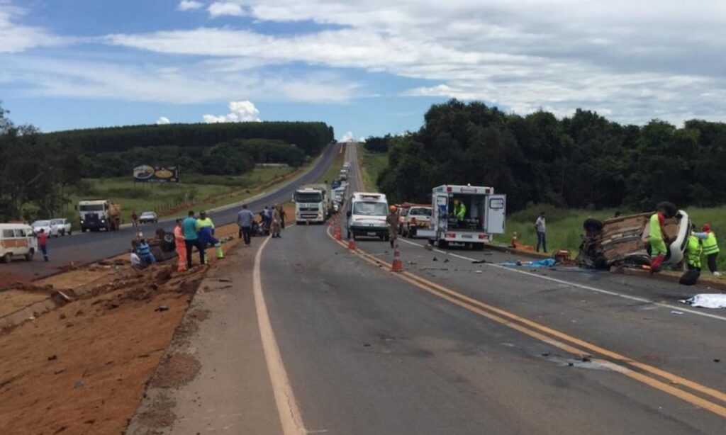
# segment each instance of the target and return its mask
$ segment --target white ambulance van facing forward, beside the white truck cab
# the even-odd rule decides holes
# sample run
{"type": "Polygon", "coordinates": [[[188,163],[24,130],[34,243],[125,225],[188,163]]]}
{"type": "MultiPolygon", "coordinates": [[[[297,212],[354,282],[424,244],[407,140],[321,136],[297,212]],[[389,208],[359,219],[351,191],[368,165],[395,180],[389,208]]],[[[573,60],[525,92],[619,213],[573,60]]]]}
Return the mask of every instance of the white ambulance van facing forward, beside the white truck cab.
{"type": "Polygon", "coordinates": [[[348,239],[378,237],[388,240],[388,200],[378,193],[354,192],[347,204],[348,239]]]}

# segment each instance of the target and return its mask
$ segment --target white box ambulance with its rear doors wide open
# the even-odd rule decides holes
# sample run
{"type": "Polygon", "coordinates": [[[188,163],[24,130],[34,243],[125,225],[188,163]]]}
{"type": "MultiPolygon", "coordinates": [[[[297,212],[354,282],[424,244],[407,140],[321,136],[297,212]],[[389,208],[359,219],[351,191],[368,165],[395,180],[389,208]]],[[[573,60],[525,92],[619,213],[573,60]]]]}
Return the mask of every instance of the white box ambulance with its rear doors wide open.
{"type": "Polygon", "coordinates": [[[495,195],[492,187],[445,184],[433,188],[431,227],[419,229],[417,236],[442,249],[452,243],[484,249],[492,234],[504,233],[506,210],[507,195],[495,195]],[[457,203],[465,207],[462,218],[454,212],[457,203]]]}

